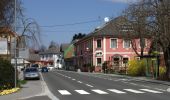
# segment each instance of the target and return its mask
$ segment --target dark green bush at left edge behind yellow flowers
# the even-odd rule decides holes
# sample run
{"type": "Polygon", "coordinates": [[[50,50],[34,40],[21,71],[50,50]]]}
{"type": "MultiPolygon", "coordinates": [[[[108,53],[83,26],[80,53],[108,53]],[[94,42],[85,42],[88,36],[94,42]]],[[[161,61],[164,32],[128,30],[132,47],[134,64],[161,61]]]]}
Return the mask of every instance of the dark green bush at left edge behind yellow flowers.
{"type": "Polygon", "coordinates": [[[0,90],[14,87],[14,73],[11,63],[0,58],[0,90]]]}

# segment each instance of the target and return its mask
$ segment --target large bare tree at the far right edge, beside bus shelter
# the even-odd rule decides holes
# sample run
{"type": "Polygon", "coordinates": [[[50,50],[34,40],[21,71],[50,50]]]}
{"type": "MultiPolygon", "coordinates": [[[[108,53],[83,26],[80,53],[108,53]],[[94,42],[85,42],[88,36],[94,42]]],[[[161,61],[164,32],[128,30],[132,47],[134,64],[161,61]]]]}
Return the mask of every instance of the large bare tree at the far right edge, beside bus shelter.
{"type": "Polygon", "coordinates": [[[164,52],[166,75],[170,77],[170,1],[146,0],[145,5],[150,8],[147,25],[164,52]]]}

